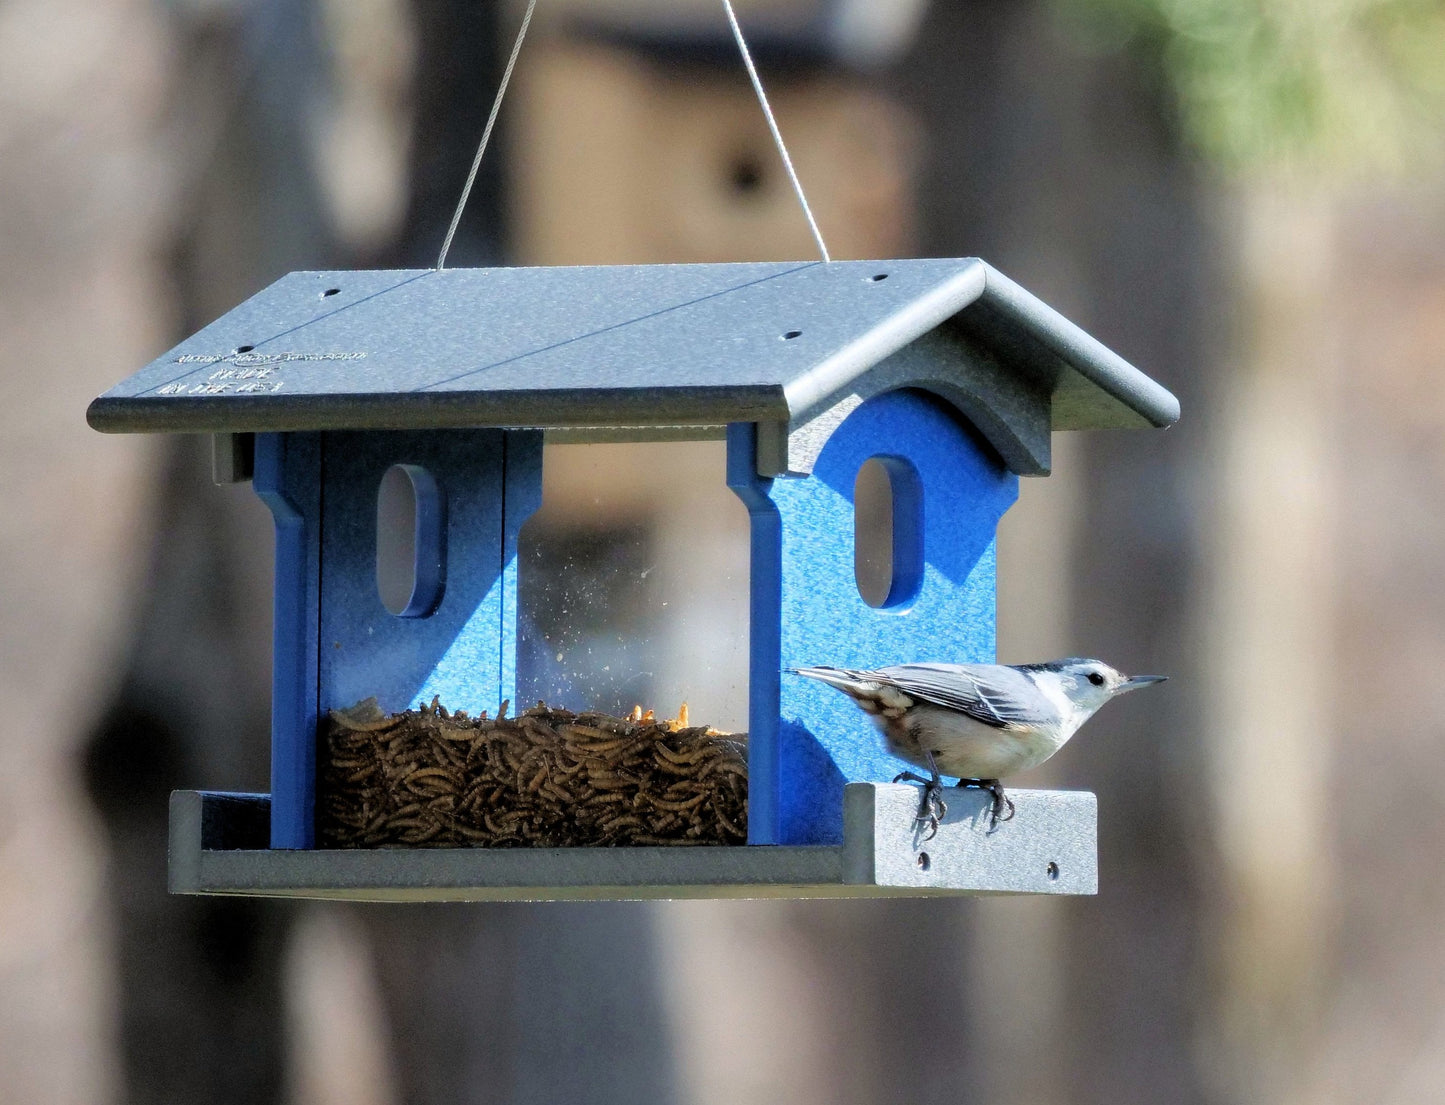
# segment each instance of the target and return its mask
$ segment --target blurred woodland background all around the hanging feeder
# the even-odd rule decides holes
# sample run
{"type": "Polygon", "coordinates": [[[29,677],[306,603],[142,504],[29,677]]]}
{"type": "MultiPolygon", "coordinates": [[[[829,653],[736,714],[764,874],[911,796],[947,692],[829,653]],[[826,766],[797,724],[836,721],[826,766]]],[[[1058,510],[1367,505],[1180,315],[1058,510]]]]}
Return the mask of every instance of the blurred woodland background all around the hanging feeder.
{"type": "MultiPolygon", "coordinates": [[[[270,523],[85,404],[434,263],[520,9],[0,0],[0,1099],[1441,1099],[1445,3],[738,10],[834,256],[983,256],[1183,403],[1000,539],[1001,660],[1172,676],[1020,780],[1100,896],[168,897],[168,790],[267,786],[270,523]]],[[[451,264],[811,256],[718,3],[542,0],[451,264]]],[[[549,455],[529,631],[728,724],[741,511],[665,449],[549,455]]]]}

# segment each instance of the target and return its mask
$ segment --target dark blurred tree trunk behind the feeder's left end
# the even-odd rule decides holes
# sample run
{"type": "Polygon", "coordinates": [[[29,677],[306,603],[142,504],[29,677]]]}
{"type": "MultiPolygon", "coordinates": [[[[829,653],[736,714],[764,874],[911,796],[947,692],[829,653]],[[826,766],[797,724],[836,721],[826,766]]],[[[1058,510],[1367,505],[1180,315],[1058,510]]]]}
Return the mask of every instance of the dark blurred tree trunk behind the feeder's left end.
{"type": "MultiPolygon", "coordinates": [[[[150,248],[169,263],[178,338],[286,272],[325,264],[335,246],[308,130],[325,78],[315,6],[171,14],[175,179],[165,244],[150,248]]],[[[160,449],[146,475],[159,485],[144,517],[146,586],[85,763],[110,844],[118,1096],[279,1101],[282,966],[299,907],[175,898],[165,877],[169,790],[267,789],[272,526],[250,488],[211,485],[208,439],[172,436],[160,449]]]]}

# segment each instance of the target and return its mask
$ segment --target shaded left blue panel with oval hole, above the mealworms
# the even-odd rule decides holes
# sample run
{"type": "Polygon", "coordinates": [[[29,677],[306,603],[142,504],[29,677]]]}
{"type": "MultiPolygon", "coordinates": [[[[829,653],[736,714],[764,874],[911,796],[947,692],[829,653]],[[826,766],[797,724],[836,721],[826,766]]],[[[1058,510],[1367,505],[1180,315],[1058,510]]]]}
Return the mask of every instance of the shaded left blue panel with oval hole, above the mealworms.
{"type": "Polygon", "coordinates": [[[400,711],[439,695],[496,711],[503,695],[503,430],[325,433],[321,539],[321,711],[376,696],[400,711]],[[419,465],[445,510],[445,579],[426,617],[397,617],[376,581],[377,490],[419,465]]]}

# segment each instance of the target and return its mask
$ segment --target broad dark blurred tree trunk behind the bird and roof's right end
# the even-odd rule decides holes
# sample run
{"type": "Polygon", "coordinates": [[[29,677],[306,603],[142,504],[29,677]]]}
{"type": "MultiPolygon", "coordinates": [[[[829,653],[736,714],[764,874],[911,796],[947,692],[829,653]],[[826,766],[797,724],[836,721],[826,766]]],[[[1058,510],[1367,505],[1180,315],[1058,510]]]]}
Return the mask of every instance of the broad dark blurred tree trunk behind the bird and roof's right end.
{"type": "MultiPolygon", "coordinates": [[[[1205,326],[1220,295],[1205,192],[1147,61],[1088,55],[1052,14],[1046,3],[1001,0],[932,7],[902,75],[933,149],[925,251],[987,257],[1181,397],[1183,422],[1168,435],[1087,435],[1058,458],[1081,467],[1061,472],[1078,501],[1071,625],[1058,644],[1186,676],[1198,664],[1188,641],[1201,536],[1189,472],[1204,454],[1218,355],[1205,326]]],[[[1051,779],[1098,793],[1098,898],[1066,903],[1061,930],[1039,920],[1045,903],[972,907],[980,1034],[967,1046],[990,1101],[1039,1101],[1040,1067],[1055,1072],[1042,1085],[1051,1101],[1208,1095],[1195,1053],[1211,891],[1196,826],[1208,797],[1192,682],[1111,706],[1049,767],[1051,779]],[[1032,924],[990,920],[1010,910],[1032,924]],[[1020,958],[1020,939],[1049,958],[1036,971],[1052,995],[1027,1049],[1016,1030],[996,1041],[988,1027],[1038,1002],[1027,975],[997,969],[1020,958]]]]}

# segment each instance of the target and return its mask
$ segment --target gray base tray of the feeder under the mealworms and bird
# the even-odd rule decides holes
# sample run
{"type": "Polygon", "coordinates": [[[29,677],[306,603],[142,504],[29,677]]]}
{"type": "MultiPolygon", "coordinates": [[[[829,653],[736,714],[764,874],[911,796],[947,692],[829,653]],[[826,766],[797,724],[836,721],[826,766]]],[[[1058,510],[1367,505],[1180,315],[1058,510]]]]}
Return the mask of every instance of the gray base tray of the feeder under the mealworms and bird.
{"type": "Polygon", "coordinates": [[[266,794],[171,794],[171,893],[351,901],[864,898],[1094,894],[1097,805],[1077,790],[1010,790],[1017,816],[988,832],[991,799],[946,792],[931,841],[920,789],[850,783],[841,846],[266,848],[266,794]]]}

